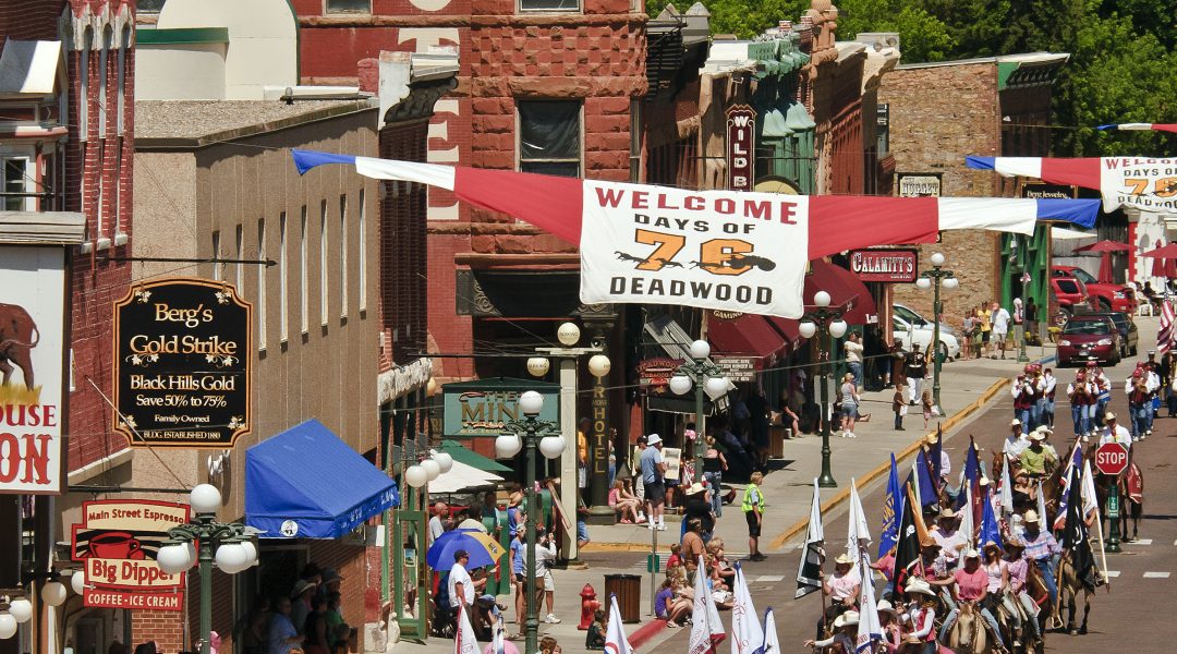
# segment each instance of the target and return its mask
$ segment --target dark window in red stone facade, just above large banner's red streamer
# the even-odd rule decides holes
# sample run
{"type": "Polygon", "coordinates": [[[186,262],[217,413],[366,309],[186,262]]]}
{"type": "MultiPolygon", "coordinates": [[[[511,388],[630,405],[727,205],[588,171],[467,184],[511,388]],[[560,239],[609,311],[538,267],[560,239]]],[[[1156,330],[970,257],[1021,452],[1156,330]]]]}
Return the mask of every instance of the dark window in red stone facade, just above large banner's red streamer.
{"type": "Polygon", "coordinates": [[[519,169],[580,176],[580,102],[519,102],[519,169]]]}

